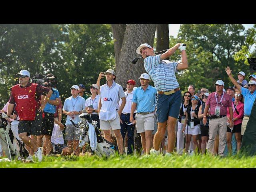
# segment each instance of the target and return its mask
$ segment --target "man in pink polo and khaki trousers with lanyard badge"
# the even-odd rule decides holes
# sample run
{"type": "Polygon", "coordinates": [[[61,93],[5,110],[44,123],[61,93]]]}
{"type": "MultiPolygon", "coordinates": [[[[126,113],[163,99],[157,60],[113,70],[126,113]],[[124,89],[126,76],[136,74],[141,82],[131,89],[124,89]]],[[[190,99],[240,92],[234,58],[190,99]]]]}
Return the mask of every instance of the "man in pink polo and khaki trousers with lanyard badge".
{"type": "Polygon", "coordinates": [[[233,110],[231,97],[223,92],[224,82],[222,80],[216,81],[216,92],[208,96],[206,106],[204,109],[203,124],[206,125],[206,114],[210,108],[210,122],[209,122],[209,140],[208,151],[213,154],[214,140],[217,132],[219,133],[219,150],[218,154],[224,157],[224,149],[226,145],[226,132],[227,132],[227,108],[230,113],[230,126],[234,126],[233,110]]]}

